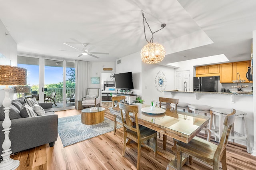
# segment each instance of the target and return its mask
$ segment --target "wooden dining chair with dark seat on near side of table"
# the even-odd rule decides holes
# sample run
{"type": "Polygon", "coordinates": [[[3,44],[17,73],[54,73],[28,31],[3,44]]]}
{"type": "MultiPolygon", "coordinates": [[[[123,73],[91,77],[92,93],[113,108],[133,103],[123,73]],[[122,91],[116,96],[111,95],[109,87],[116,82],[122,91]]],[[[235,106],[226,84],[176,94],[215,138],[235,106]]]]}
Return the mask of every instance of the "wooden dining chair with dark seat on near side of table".
{"type": "Polygon", "coordinates": [[[137,157],[137,169],[140,168],[140,147],[141,143],[147,141],[150,138],[154,138],[154,157],[156,157],[156,148],[157,148],[157,132],[150,128],[139,125],[138,123],[138,106],[136,105],[126,105],[123,103],[118,103],[122,118],[122,123],[124,127],[124,146],[122,156],[124,157],[126,145],[130,143],[131,140],[137,142],[138,144],[138,157],[137,157]],[[125,117],[123,116],[123,111],[125,113],[125,117]],[[129,113],[133,113],[135,119],[135,125],[132,121],[132,117],[129,113]],[[129,138],[126,142],[126,138],[129,138]]]}

